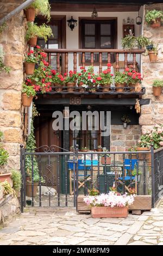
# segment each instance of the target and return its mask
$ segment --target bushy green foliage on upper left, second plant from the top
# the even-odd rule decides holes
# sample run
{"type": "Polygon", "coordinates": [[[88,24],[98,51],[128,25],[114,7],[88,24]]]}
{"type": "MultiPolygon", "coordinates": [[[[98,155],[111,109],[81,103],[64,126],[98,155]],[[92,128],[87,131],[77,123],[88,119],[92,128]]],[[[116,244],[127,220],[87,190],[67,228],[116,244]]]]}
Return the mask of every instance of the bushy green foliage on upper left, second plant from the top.
{"type": "Polygon", "coordinates": [[[43,38],[45,41],[47,41],[48,37],[52,35],[53,33],[51,27],[45,25],[44,23],[41,26],[37,26],[36,23],[32,24],[32,22],[28,22],[28,29],[26,32],[27,41],[30,38],[35,38],[35,36],[43,38]]]}

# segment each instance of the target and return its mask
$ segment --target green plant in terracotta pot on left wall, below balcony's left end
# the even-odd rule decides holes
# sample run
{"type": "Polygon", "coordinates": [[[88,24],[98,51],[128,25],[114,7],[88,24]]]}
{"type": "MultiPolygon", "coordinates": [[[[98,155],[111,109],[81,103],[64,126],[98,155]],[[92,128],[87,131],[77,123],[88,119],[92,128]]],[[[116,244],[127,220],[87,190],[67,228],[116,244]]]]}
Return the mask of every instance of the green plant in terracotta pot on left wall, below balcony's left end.
{"type": "Polygon", "coordinates": [[[27,86],[26,83],[23,83],[22,89],[22,99],[23,99],[23,106],[30,107],[33,97],[36,95],[36,91],[33,86],[27,86]]]}

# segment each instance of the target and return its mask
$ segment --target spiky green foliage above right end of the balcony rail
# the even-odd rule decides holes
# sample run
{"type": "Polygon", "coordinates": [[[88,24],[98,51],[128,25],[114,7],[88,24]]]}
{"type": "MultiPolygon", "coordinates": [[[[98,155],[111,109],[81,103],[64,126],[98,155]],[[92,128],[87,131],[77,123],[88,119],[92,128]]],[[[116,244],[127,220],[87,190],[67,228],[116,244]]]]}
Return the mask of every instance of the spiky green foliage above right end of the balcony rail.
{"type": "Polygon", "coordinates": [[[122,38],[123,49],[130,50],[135,47],[143,48],[147,45],[149,45],[149,39],[142,35],[139,35],[137,37],[134,35],[127,35],[122,38]]]}

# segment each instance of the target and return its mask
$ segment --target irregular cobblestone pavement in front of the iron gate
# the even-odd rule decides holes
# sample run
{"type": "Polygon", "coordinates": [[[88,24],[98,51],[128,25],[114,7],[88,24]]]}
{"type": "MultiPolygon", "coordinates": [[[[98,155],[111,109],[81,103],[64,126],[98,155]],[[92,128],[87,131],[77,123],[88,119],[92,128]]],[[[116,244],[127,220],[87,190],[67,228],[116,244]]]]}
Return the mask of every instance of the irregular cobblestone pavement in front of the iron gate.
{"type": "Polygon", "coordinates": [[[163,245],[163,200],[127,218],[91,218],[66,208],[26,211],[0,229],[0,245],[163,245]]]}

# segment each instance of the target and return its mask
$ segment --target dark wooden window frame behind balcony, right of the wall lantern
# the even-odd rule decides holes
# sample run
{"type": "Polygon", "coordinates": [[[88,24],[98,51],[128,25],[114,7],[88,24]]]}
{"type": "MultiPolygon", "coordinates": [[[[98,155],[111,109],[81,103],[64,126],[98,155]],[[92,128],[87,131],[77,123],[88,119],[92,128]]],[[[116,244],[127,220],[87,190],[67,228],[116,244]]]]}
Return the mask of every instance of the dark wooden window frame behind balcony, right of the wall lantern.
{"type": "MultiPolygon", "coordinates": [[[[108,21],[112,21],[113,23],[113,26],[112,26],[112,31],[114,31],[114,33],[112,33],[112,36],[113,36],[113,42],[112,44],[114,45],[114,48],[117,48],[117,17],[97,17],[95,19],[92,19],[91,17],[79,17],[79,49],[86,49],[84,48],[84,37],[83,37],[83,34],[84,34],[84,23],[88,22],[88,23],[107,23],[108,21]]],[[[97,33],[95,33],[95,36],[96,36],[97,33]]],[[[99,42],[98,42],[99,44],[99,42]]],[[[96,48],[95,48],[96,49],[96,48]]],[[[106,48],[101,48],[102,50],[106,49],[106,48]]],[[[114,63],[114,61],[112,62],[114,63]]],[[[90,62],[85,62],[85,66],[90,66],[90,62]]],[[[79,54],[79,66],[82,65],[82,58],[81,58],[81,55],[79,54]]],[[[99,62],[94,62],[94,65],[95,66],[98,66],[99,65],[99,62]]],[[[103,62],[102,63],[103,66],[106,66],[106,63],[103,62]]]]}

